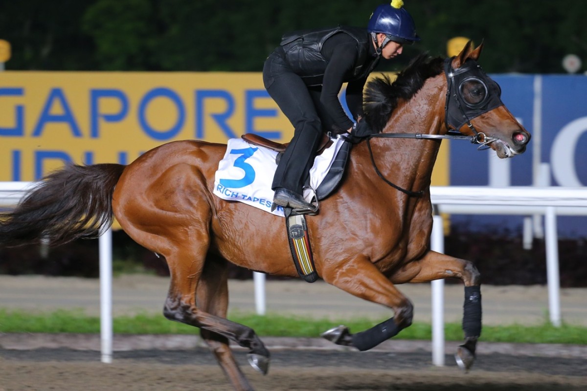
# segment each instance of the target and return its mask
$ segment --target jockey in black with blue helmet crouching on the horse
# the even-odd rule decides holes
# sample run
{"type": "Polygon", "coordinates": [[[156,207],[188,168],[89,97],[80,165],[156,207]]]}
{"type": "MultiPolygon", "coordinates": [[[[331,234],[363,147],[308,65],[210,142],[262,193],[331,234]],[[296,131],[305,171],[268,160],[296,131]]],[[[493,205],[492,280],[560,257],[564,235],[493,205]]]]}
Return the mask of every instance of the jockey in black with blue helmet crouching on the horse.
{"type": "Polygon", "coordinates": [[[358,120],[363,86],[379,59],[392,59],[402,54],[403,45],[420,40],[413,19],[402,6],[402,0],[378,6],[367,29],[338,26],[285,34],[267,57],[265,89],[294,125],[294,137],[271,186],[275,205],[314,208],[302,193],[323,131],[352,132],[358,137],[372,132],[366,121],[349,119],[338,94],[342,84],[348,83],[346,103],[358,120]]]}

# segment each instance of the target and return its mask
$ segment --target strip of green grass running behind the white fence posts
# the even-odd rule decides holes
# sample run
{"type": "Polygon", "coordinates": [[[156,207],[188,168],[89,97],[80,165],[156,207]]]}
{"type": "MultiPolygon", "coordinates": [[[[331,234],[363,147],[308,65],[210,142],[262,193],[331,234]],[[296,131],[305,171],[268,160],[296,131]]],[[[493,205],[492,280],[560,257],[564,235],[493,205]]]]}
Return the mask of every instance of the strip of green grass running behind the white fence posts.
{"type": "MultiPolygon", "coordinates": [[[[370,328],[377,322],[371,319],[314,319],[293,315],[268,314],[265,316],[235,312],[232,321],[253,328],[259,336],[292,336],[318,338],[320,333],[339,324],[351,332],[370,328]]],[[[44,313],[0,310],[0,332],[71,332],[98,333],[100,319],[89,317],[83,311],[59,310],[44,313]]],[[[168,321],[163,315],[136,315],[114,318],[116,334],[196,334],[198,329],[178,322],[168,321]]],[[[461,325],[449,323],[445,326],[447,341],[461,341],[461,325]]],[[[431,326],[414,323],[404,329],[396,339],[430,339],[431,326]]],[[[562,325],[553,327],[548,322],[541,325],[485,326],[481,335],[484,342],[524,342],[531,344],[578,344],[587,345],[587,327],[562,325]]]]}

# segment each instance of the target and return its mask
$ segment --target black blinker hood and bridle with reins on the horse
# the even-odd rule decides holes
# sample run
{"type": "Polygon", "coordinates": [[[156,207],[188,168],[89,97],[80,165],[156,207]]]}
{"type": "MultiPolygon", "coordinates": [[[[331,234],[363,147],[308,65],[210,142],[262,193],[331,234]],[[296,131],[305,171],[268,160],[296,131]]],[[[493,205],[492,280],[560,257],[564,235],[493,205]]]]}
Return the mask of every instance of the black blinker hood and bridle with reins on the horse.
{"type": "Polygon", "coordinates": [[[447,134],[424,134],[424,133],[376,133],[366,137],[367,148],[371,162],[375,168],[375,172],[388,185],[393,188],[406,193],[409,196],[421,196],[423,191],[410,191],[400,188],[383,176],[375,164],[373,158],[373,151],[371,149],[370,139],[372,138],[415,138],[420,140],[468,140],[471,144],[480,144],[477,149],[483,150],[490,148],[490,144],[498,139],[495,137],[488,137],[484,132],[479,132],[471,124],[473,118],[478,117],[483,113],[494,110],[494,108],[503,106],[501,101],[500,86],[495,83],[483,70],[475,60],[468,59],[463,66],[458,69],[453,69],[452,62],[454,57],[444,60],[444,74],[447,79],[446,103],[444,104],[444,125],[447,128],[447,134]],[[472,83],[483,87],[484,94],[478,101],[477,97],[464,96],[465,83],[472,83]],[[473,135],[466,136],[461,134],[460,129],[464,124],[473,132],[473,135]]]}

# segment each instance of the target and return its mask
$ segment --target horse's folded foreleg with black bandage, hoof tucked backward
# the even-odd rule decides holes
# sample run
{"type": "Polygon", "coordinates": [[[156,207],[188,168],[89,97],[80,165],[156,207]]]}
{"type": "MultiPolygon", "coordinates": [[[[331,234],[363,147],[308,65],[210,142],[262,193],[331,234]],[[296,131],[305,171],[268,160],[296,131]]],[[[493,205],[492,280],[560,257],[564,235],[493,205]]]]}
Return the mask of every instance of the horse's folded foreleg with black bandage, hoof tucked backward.
{"type": "Polygon", "coordinates": [[[350,334],[345,326],[330,329],[322,334],[329,341],[366,351],[411,325],[413,305],[410,300],[369,260],[359,259],[342,267],[322,270],[322,278],[356,297],[385,305],[394,311],[393,318],[356,334],[350,334]]]}

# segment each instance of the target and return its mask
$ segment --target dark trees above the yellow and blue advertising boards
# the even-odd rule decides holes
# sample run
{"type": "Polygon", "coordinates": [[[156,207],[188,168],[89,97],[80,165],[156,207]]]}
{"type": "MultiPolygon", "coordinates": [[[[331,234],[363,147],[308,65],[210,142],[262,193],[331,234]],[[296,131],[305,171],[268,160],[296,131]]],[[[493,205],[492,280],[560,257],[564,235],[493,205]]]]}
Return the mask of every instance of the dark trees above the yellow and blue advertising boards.
{"type": "MultiPolygon", "coordinates": [[[[366,26],[383,1],[0,0],[8,70],[261,71],[284,32],[366,26]]],[[[587,2],[406,0],[421,43],[383,62],[402,69],[422,51],[446,56],[447,40],[485,41],[488,73],[565,73],[587,63],[587,2]]]]}

